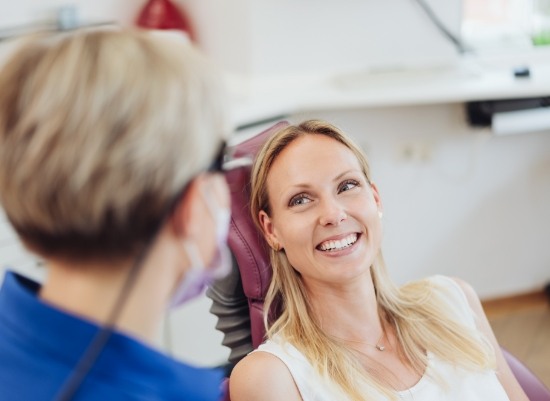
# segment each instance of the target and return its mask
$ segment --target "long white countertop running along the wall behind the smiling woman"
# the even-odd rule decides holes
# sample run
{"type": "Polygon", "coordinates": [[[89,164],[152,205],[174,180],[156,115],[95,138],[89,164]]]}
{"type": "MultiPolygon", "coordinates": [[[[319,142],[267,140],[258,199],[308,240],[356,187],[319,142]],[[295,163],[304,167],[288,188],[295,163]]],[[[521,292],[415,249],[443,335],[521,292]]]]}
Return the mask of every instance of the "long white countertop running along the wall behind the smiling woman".
{"type": "Polygon", "coordinates": [[[550,96],[550,47],[507,56],[468,56],[454,66],[324,77],[233,80],[236,125],[316,110],[461,103],[550,96]],[[514,77],[528,67],[529,78],[514,77]]]}

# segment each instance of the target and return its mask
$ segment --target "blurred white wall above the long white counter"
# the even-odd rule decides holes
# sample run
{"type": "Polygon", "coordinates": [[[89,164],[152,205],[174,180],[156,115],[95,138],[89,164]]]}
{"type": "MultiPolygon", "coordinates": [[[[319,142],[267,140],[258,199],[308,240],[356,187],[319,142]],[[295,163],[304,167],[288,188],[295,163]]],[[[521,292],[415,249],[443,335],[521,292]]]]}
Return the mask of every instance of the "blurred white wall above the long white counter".
{"type": "MultiPolygon", "coordinates": [[[[461,0],[428,0],[454,34],[461,0]]],[[[225,69],[311,75],[447,64],[457,51],[410,0],[189,0],[199,43],[225,69]],[[234,45],[228,46],[229,43],[234,45]]]]}

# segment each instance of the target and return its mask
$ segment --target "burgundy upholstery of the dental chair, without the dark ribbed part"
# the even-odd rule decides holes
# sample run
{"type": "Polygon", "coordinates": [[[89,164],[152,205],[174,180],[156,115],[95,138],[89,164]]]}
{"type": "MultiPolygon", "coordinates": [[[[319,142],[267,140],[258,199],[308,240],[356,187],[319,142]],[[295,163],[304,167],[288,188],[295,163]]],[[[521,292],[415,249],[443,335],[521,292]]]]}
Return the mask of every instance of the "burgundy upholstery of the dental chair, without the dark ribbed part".
{"type": "MultiPolygon", "coordinates": [[[[261,145],[274,132],[289,125],[282,121],[260,134],[238,144],[233,158],[250,157],[253,159],[261,145]]],[[[231,226],[229,230],[229,247],[239,266],[245,296],[248,298],[252,346],[257,348],[263,341],[263,301],[271,280],[271,267],[267,244],[263,240],[250,217],[249,180],[250,165],[232,169],[226,173],[231,192],[231,226]]],[[[514,375],[531,401],[550,401],[550,391],[519,360],[504,350],[514,375]]],[[[227,383],[225,383],[227,385],[227,383]]],[[[229,400],[227,394],[226,400],[229,400]]]]}

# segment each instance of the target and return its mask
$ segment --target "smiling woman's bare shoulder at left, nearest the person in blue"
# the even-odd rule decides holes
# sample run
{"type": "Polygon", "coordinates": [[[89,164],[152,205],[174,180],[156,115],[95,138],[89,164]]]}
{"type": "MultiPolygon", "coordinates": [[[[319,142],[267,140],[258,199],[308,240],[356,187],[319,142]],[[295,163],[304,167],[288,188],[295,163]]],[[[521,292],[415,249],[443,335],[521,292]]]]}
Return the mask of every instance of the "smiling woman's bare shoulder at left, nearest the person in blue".
{"type": "Polygon", "coordinates": [[[286,364],[269,352],[252,352],[231,372],[231,401],[301,401],[286,364]]]}

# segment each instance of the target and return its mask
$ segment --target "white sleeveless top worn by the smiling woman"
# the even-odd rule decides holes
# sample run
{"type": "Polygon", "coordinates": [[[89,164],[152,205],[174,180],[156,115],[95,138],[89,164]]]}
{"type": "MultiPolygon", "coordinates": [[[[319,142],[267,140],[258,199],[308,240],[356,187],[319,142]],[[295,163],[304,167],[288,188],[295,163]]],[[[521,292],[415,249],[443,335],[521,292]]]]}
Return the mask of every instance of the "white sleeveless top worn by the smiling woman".
{"type": "MultiPolygon", "coordinates": [[[[470,309],[465,294],[452,279],[434,276],[429,279],[435,285],[443,286],[455,301],[459,316],[464,323],[475,327],[475,317],[470,309]]],[[[303,401],[345,401],[338,389],[323,380],[307,361],[305,356],[294,346],[268,340],[253,352],[268,352],[275,355],[287,366],[294,382],[300,391],[303,401]]],[[[509,401],[508,395],[492,370],[471,372],[455,367],[428,353],[428,366],[422,378],[408,390],[399,391],[400,400],[406,401],[509,401]],[[441,386],[435,381],[432,372],[443,379],[448,386],[441,386]]],[[[384,400],[383,396],[371,397],[372,400],[384,400]]]]}

